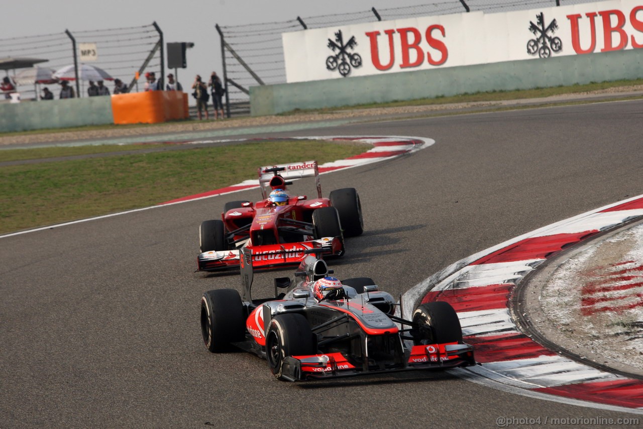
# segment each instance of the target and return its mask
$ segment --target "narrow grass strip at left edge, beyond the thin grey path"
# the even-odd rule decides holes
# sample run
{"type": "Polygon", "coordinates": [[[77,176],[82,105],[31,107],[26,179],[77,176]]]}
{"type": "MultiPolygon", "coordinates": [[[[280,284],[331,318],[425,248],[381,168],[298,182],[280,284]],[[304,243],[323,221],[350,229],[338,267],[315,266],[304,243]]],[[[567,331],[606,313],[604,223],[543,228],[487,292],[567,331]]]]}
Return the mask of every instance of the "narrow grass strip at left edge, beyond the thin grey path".
{"type": "Polygon", "coordinates": [[[95,146],[72,146],[37,148],[37,149],[0,149],[0,162],[24,161],[30,159],[73,157],[77,155],[92,155],[120,151],[137,151],[167,146],[165,144],[100,144],[95,146]]]}

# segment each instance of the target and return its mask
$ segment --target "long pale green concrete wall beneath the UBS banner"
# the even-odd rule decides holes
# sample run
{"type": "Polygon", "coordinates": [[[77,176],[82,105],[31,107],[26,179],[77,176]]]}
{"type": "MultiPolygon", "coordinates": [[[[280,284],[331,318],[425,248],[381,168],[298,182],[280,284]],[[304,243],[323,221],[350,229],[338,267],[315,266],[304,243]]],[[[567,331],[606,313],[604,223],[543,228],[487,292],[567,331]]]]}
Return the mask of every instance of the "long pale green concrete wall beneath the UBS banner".
{"type": "Polygon", "coordinates": [[[484,91],[528,90],[643,78],[643,50],[347,77],[250,88],[251,115],[484,91]]]}

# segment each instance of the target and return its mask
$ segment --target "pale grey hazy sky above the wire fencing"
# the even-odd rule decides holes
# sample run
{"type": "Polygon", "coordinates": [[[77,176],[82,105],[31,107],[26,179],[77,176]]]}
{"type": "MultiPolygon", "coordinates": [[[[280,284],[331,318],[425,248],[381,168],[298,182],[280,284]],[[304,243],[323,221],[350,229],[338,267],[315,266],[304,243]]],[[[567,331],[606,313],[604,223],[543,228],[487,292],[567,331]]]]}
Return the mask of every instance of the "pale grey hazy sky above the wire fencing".
{"type": "MultiPolygon", "coordinates": [[[[457,0],[453,0],[454,2],[457,0]]],[[[100,30],[149,25],[163,31],[165,42],[194,42],[179,81],[192,84],[197,73],[206,77],[221,70],[219,34],[214,24],[278,22],[300,17],[343,14],[401,6],[421,5],[422,0],[3,0],[0,39],[11,37],[100,30]]],[[[0,57],[6,54],[0,52],[0,57]]],[[[167,74],[166,62],[166,74],[167,74]]]]}

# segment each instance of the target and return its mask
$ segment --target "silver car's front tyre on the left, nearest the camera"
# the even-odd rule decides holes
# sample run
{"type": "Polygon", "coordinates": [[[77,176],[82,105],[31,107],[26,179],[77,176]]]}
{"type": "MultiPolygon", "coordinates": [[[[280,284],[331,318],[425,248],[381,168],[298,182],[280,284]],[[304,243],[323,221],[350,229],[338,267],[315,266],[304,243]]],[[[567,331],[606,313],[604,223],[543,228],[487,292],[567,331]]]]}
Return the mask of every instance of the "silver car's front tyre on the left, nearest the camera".
{"type": "Polygon", "coordinates": [[[266,335],[268,367],[276,379],[285,381],[284,359],[315,354],[313,334],[302,314],[278,314],[270,320],[266,335]]]}

